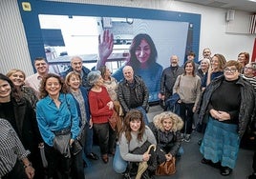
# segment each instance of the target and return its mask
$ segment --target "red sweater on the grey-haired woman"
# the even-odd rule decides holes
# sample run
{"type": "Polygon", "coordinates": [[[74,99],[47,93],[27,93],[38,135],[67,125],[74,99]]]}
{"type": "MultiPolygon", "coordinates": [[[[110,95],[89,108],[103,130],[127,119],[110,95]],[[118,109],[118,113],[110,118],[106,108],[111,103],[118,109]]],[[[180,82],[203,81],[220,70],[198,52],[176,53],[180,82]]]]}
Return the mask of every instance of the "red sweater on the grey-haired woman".
{"type": "Polygon", "coordinates": [[[108,123],[109,117],[113,114],[113,110],[107,106],[111,101],[108,91],[105,87],[101,88],[100,92],[89,91],[89,105],[94,124],[108,123]]]}

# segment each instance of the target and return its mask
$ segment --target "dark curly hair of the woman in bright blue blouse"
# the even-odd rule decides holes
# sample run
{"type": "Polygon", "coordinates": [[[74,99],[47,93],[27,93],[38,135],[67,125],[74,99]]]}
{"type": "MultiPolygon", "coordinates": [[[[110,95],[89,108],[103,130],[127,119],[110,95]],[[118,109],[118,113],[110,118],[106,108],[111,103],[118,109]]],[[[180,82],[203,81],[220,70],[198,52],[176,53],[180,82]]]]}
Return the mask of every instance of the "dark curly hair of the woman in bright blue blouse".
{"type": "Polygon", "coordinates": [[[45,75],[40,83],[40,88],[39,88],[39,98],[45,98],[48,95],[48,91],[45,89],[46,87],[46,82],[49,78],[56,78],[61,86],[61,89],[59,92],[61,93],[68,93],[68,89],[64,83],[64,80],[58,76],[57,74],[54,73],[48,73],[47,75],[45,75]]]}

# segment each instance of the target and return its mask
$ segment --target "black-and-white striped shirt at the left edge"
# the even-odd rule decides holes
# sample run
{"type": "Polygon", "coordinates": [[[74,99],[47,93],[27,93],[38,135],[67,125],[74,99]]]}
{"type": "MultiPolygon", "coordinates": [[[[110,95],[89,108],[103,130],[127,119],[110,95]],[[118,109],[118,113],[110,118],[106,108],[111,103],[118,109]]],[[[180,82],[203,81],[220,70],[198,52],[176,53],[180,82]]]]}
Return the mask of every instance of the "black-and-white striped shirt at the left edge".
{"type": "Polygon", "coordinates": [[[11,171],[17,159],[21,160],[30,154],[24,149],[17,133],[11,124],[0,118],[0,178],[11,171]]]}

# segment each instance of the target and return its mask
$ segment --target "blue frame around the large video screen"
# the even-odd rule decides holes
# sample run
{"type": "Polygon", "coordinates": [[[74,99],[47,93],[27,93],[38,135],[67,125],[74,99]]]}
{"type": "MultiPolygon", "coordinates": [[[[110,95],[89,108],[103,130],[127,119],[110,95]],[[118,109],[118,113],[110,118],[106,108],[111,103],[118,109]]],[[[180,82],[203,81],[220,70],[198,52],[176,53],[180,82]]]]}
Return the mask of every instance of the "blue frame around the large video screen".
{"type": "Polygon", "coordinates": [[[23,10],[22,0],[18,6],[24,25],[31,61],[38,56],[45,57],[43,37],[40,29],[39,14],[126,17],[151,20],[188,22],[193,24],[193,43],[190,50],[199,54],[201,14],[170,10],[150,10],[141,8],[126,8],[117,6],[91,5],[53,1],[26,1],[31,10],[23,10]]]}

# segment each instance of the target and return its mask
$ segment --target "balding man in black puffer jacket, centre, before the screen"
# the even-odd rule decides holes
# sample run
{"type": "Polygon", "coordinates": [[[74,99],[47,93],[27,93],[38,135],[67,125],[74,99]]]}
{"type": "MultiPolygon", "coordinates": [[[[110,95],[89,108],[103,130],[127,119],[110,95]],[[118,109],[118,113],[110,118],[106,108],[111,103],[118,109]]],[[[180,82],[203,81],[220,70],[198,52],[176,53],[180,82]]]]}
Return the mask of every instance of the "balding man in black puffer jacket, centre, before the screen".
{"type": "Polygon", "coordinates": [[[126,114],[131,109],[139,109],[143,113],[143,118],[147,125],[148,89],[142,79],[134,75],[134,70],[131,66],[125,66],[122,72],[124,79],[118,84],[117,98],[123,112],[126,114]]]}

